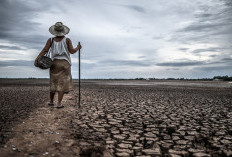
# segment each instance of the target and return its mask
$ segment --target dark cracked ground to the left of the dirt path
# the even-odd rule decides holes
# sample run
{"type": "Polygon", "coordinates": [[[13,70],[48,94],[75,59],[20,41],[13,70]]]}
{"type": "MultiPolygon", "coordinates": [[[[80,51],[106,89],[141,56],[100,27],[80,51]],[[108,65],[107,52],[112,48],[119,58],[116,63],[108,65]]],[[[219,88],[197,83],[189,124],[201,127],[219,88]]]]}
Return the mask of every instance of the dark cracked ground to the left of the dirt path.
{"type": "MultiPolygon", "coordinates": [[[[25,81],[26,82],[26,81],[25,81]]],[[[48,100],[49,87],[23,85],[14,82],[0,84],[0,146],[11,136],[11,128],[48,100]]]]}

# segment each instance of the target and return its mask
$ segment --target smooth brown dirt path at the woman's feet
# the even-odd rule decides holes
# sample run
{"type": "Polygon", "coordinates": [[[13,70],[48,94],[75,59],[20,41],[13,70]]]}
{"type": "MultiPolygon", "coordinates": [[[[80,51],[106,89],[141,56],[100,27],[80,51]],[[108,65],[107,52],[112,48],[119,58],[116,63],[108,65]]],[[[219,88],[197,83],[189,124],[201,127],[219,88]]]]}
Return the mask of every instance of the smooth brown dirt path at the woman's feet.
{"type": "Polygon", "coordinates": [[[75,117],[73,98],[66,95],[65,109],[41,104],[10,130],[12,138],[0,149],[1,156],[79,156],[71,136],[75,117]]]}

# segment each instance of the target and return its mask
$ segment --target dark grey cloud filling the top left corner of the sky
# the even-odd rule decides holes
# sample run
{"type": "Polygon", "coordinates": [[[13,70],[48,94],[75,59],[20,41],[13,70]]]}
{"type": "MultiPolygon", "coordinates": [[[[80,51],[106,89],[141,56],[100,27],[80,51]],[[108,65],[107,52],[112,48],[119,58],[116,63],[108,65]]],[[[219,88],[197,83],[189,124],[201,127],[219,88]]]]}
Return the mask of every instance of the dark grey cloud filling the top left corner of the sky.
{"type": "Polygon", "coordinates": [[[41,41],[46,41],[46,37],[37,31],[40,24],[31,19],[41,10],[47,9],[49,2],[46,2],[47,5],[34,3],[36,2],[0,1],[0,39],[28,48],[38,48],[44,44],[41,41]]]}

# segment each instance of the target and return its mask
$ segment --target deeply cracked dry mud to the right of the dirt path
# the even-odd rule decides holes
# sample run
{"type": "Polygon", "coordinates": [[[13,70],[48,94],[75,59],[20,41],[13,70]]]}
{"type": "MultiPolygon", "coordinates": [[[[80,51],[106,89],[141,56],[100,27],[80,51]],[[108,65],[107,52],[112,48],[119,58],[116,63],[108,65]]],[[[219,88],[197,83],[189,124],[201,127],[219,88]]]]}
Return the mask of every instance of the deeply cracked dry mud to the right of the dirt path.
{"type": "Polygon", "coordinates": [[[231,96],[230,88],[86,86],[75,137],[102,141],[114,156],[230,156],[231,96]]]}

